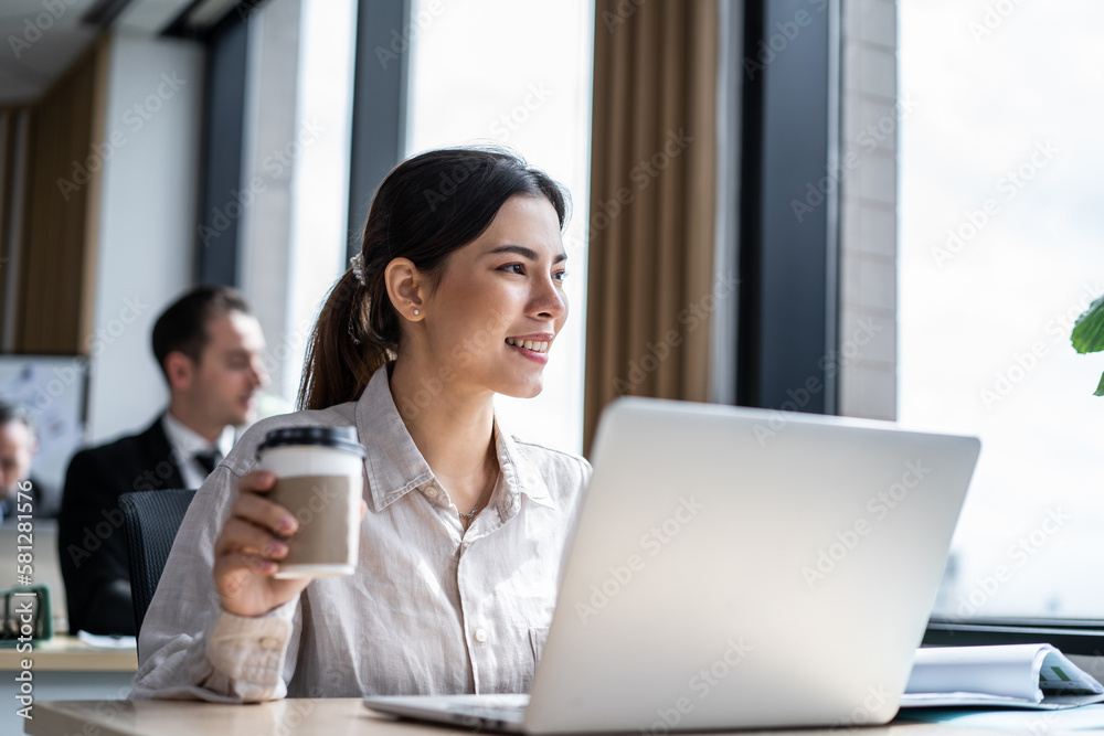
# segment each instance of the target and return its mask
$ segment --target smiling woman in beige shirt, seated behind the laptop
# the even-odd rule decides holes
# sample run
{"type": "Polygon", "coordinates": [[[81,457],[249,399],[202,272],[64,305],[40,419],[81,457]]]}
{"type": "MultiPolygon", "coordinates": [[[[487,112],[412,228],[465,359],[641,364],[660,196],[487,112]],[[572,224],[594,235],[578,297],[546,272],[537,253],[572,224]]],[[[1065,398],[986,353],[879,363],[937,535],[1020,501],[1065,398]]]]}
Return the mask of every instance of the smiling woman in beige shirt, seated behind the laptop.
{"type": "Polygon", "coordinates": [[[529,690],[591,469],[511,437],[492,398],[541,391],[567,317],[565,216],[560,186],[505,152],[388,175],[311,337],[305,410],[245,433],[188,511],[136,697],[529,690]],[[368,452],[360,561],[275,579],[295,520],[265,498],[256,447],[309,424],[355,426],[368,452]]]}

